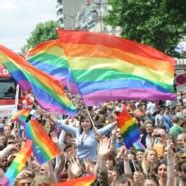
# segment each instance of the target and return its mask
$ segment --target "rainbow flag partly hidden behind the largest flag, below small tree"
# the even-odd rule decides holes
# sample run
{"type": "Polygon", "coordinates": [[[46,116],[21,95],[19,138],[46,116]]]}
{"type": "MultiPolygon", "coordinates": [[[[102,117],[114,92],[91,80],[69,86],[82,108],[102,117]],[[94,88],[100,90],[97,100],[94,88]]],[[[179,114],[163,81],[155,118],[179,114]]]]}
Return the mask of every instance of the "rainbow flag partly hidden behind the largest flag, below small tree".
{"type": "Polygon", "coordinates": [[[67,87],[72,93],[78,93],[77,85],[68,68],[59,39],[40,43],[29,51],[28,61],[41,71],[51,75],[67,87]]]}

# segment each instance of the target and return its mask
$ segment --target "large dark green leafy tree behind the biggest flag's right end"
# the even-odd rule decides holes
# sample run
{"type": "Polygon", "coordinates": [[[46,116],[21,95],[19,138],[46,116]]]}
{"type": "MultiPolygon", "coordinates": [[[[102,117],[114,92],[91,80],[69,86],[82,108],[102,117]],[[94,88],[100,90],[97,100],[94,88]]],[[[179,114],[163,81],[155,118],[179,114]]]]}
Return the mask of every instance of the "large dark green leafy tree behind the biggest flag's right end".
{"type": "Polygon", "coordinates": [[[184,0],[110,0],[107,24],[122,28],[122,37],[151,45],[169,55],[184,34],[184,0]]]}

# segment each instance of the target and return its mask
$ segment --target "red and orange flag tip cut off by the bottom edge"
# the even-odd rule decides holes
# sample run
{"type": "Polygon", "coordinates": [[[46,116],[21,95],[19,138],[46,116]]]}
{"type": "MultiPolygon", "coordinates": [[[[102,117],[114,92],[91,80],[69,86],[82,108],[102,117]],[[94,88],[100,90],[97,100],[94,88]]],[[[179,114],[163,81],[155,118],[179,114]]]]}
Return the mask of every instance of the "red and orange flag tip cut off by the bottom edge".
{"type": "Polygon", "coordinates": [[[81,178],[72,179],[63,183],[51,184],[51,186],[91,186],[95,179],[95,176],[85,176],[81,178]]]}

